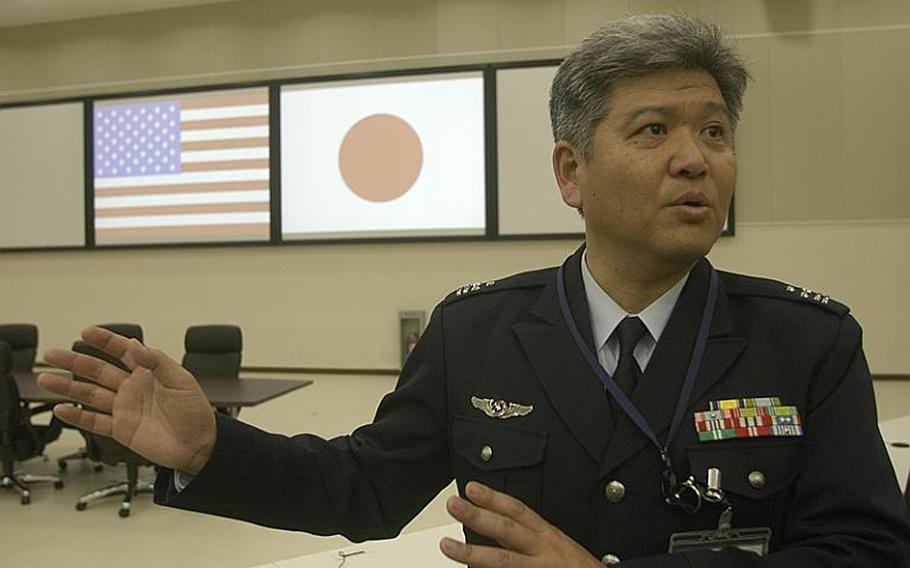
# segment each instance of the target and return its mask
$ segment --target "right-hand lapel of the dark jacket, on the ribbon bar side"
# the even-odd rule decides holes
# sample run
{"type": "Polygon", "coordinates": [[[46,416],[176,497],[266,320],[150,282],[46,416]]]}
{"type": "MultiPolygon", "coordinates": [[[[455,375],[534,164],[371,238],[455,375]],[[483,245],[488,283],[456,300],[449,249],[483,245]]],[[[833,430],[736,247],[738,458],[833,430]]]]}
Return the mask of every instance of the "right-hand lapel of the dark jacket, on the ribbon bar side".
{"type": "MultiPolygon", "coordinates": [[[[661,443],[669,430],[686,377],[707,297],[710,273],[711,265],[704,259],[692,269],[648,367],[632,393],[632,402],[661,443]]],[[[745,347],[745,339],[729,335],[732,327],[726,294],[722,283],[719,283],[714,319],[689,405],[694,404],[702,393],[723,376],[724,371],[745,347]]],[[[687,417],[688,410],[683,421],[687,417]]],[[[652,442],[632,420],[626,416],[621,417],[617,423],[616,435],[607,448],[602,473],[609,473],[649,446],[653,447],[652,442]]]]}

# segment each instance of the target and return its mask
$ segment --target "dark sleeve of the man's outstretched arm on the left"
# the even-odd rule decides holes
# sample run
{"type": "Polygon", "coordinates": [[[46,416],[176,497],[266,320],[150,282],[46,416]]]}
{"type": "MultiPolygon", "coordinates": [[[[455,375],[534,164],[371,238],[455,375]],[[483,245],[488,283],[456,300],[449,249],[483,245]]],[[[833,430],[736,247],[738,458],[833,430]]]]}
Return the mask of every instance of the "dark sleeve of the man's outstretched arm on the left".
{"type": "Polygon", "coordinates": [[[162,469],[155,501],[355,542],[397,535],[452,480],[442,327],[437,308],[373,423],[326,440],[216,414],[209,462],[179,493],[162,469]]]}

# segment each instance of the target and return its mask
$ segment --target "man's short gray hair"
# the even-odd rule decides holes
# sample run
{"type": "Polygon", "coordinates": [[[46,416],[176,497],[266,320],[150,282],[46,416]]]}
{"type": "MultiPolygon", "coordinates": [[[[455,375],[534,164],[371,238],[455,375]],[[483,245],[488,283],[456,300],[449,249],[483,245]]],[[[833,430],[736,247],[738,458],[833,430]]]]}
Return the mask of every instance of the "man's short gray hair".
{"type": "Polygon", "coordinates": [[[682,14],[630,16],[599,28],[559,66],[550,88],[550,125],[587,160],[594,128],[610,110],[610,94],[623,78],[658,71],[703,70],[720,89],[735,128],[749,72],[712,25],[682,14]]]}

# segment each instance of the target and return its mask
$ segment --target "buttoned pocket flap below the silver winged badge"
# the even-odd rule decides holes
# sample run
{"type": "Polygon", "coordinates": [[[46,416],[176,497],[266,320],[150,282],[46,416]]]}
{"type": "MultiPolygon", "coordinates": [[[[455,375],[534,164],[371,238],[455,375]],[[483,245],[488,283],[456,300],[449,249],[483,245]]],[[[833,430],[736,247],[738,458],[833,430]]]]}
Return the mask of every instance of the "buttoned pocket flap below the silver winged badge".
{"type": "Polygon", "coordinates": [[[522,430],[500,422],[454,417],[455,452],[482,471],[531,467],[543,461],[546,432],[522,430]]]}

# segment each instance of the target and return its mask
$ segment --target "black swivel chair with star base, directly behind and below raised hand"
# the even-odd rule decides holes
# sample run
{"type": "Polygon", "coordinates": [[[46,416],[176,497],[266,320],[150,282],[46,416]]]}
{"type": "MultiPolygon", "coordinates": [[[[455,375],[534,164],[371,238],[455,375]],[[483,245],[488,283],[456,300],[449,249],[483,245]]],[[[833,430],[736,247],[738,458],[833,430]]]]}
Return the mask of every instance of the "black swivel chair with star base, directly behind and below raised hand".
{"type": "MultiPolygon", "coordinates": [[[[124,371],[129,371],[122,361],[84,341],[75,342],[73,344],[73,351],[101,359],[111,365],[120,367],[124,371]]],[[[134,495],[154,492],[154,485],[152,483],[139,479],[139,467],[152,466],[154,464],[107,436],[93,434],[91,432],[86,432],[85,430],[80,430],[80,432],[82,433],[82,437],[85,438],[85,452],[88,459],[112,466],[125,465],[126,481],[118,481],[79,497],[79,500],[76,501],[76,510],[84,511],[89,503],[98,499],[103,499],[104,497],[123,495],[123,501],[120,504],[118,513],[121,517],[128,517],[134,495]]]]}

